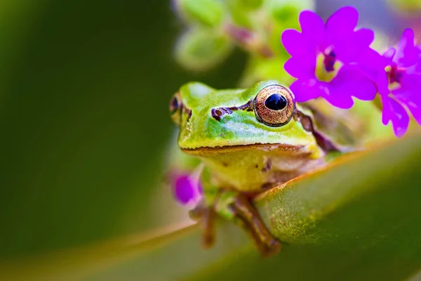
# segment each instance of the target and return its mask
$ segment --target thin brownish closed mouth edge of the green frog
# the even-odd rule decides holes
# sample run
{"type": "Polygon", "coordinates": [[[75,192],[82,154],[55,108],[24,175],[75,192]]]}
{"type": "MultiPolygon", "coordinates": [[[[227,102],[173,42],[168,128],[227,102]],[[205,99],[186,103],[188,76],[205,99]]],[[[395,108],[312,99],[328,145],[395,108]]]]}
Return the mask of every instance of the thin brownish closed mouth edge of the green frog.
{"type": "Polygon", "coordinates": [[[183,152],[190,155],[215,155],[231,152],[242,152],[250,150],[260,150],[264,152],[274,152],[286,155],[311,155],[312,152],[308,145],[288,145],[283,143],[255,143],[250,145],[225,145],[225,146],[202,146],[199,148],[182,148],[183,152]]]}

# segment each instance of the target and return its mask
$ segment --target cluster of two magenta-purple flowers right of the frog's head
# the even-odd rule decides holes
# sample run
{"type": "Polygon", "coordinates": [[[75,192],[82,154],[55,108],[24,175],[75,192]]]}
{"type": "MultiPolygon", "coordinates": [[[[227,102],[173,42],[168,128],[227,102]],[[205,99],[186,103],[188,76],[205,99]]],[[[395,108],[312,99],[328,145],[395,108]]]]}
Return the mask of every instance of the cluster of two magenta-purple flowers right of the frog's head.
{"type": "Polygon", "coordinates": [[[421,124],[421,46],[407,29],[396,47],[380,54],[370,48],[374,32],[356,29],[358,11],[347,6],[326,20],[302,11],[301,32],[285,30],[281,41],[291,58],[284,68],[296,81],[290,85],[298,102],[325,98],[340,108],[350,108],[353,98],[382,100],[382,122],[392,122],[403,136],[410,112],[421,124]]]}

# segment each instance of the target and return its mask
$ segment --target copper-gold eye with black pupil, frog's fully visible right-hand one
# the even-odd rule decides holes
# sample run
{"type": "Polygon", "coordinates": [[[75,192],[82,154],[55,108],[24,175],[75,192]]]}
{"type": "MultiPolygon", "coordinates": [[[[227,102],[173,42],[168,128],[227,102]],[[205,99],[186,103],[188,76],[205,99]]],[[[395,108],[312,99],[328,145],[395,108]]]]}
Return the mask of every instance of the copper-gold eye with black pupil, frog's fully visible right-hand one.
{"type": "Polygon", "coordinates": [[[256,96],[254,110],[259,122],[267,126],[283,126],[294,115],[293,93],[281,85],[266,86],[256,96]]]}

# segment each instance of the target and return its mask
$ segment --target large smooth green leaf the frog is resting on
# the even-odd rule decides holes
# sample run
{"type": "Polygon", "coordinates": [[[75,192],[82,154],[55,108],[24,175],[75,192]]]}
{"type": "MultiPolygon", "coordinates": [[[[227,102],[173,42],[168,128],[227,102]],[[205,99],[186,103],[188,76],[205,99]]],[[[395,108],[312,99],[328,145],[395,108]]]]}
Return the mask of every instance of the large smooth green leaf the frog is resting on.
{"type": "Polygon", "coordinates": [[[255,204],[283,241],[269,259],[242,230],[222,222],[210,250],[201,249],[201,231],[190,226],[4,263],[0,274],[7,280],[22,273],[60,280],[402,280],[421,268],[420,166],[418,131],[342,155],[263,193],[255,204]]]}

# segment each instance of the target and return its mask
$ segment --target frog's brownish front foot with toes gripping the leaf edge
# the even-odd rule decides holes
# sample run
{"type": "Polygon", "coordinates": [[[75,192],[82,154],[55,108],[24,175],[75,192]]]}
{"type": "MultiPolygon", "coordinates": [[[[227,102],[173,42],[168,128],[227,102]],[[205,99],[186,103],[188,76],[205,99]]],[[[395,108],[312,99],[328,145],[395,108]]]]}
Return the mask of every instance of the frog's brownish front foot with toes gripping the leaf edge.
{"type": "Polygon", "coordinates": [[[217,214],[246,230],[262,256],[272,256],[280,251],[281,243],[269,233],[248,197],[232,190],[222,190],[212,205],[199,205],[190,211],[190,217],[202,223],[203,247],[212,247],[215,242],[214,221],[217,214]]]}

